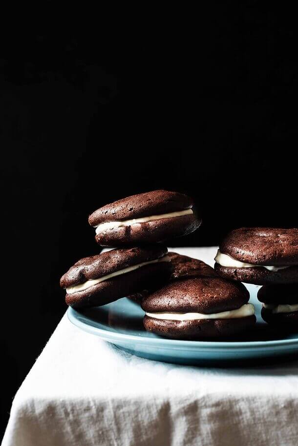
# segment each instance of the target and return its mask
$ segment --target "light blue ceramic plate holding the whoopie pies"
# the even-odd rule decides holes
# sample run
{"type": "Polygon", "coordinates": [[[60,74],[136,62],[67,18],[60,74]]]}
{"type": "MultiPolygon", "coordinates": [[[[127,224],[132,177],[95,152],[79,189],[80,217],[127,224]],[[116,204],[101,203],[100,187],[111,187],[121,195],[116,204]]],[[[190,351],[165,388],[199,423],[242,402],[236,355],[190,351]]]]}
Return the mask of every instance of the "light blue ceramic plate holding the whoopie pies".
{"type": "Polygon", "coordinates": [[[261,304],[256,299],[259,288],[246,285],[255,305],[255,328],[238,338],[222,341],[177,341],[148,333],[143,328],[144,311],[127,298],[101,307],[76,311],[68,308],[69,320],[88,333],[99,336],[133,355],[177,364],[202,364],[260,360],[298,353],[298,332],[284,333],[264,323],[261,304]]]}

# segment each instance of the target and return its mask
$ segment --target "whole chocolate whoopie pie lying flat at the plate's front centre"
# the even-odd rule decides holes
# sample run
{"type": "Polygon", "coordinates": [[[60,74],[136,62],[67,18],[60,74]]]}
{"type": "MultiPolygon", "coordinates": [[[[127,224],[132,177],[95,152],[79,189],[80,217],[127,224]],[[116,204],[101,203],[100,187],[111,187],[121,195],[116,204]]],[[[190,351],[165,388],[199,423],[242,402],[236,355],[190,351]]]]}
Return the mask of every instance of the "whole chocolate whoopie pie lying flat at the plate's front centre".
{"type": "Polygon", "coordinates": [[[255,324],[254,305],[241,283],[220,277],[173,282],[142,302],[146,330],[174,339],[220,338],[255,324]]]}

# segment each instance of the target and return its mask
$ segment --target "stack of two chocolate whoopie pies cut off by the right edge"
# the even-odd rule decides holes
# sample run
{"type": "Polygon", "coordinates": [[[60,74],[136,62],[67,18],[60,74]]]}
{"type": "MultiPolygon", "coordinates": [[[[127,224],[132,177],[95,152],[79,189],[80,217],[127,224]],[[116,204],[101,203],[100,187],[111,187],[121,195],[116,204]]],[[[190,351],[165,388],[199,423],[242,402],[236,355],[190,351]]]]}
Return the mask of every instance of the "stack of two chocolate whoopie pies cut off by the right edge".
{"type": "Polygon", "coordinates": [[[263,285],[262,318],[298,326],[298,228],[240,228],[219,245],[214,269],[226,279],[263,285]]]}

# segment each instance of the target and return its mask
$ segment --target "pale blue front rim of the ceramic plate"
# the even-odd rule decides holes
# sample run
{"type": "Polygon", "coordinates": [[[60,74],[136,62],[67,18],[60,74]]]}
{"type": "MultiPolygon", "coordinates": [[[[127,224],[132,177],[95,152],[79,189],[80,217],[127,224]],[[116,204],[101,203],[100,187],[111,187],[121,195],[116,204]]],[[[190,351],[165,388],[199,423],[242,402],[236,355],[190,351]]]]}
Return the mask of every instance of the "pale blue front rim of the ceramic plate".
{"type": "MultiPolygon", "coordinates": [[[[93,324],[86,324],[84,321],[80,320],[79,316],[82,316],[86,319],[87,316],[81,315],[79,311],[72,307],[68,307],[67,311],[68,320],[75,326],[81,328],[82,330],[89,332],[91,334],[97,335],[102,339],[105,339],[108,342],[124,342],[124,341],[133,341],[136,343],[140,343],[143,345],[155,345],[156,347],[160,346],[165,348],[168,345],[169,348],[177,347],[181,349],[182,347],[187,347],[188,349],[196,349],[196,350],[250,350],[257,348],[259,350],[262,349],[279,349],[283,347],[294,347],[298,348],[298,337],[296,339],[277,339],[277,340],[269,340],[269,341],[188,341],[188,340],[180,340],[180,339],[168,339],[168,338],[151,338],[146,336],[132,335],[121,333],[117,331],[108,331],[104,328],[97,327],[93,324]],[[94,333],[95,331],[95,333],[94,333]]],[[[91,321],[91,320],[90,320],[91,321]]]]}

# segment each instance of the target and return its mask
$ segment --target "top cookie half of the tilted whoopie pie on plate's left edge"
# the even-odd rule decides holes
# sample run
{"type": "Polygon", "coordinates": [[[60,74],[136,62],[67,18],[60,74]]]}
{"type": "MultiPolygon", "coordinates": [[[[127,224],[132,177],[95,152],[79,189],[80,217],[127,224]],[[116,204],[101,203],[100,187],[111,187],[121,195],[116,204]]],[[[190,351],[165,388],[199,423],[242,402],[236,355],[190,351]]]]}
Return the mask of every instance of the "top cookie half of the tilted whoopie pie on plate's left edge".
{"type": "Polygon", "coordinates": [[[112,249],[96,256],[85,257],[75,263],[62,276],[60,285],[63,288],[84,283],[119,271],[128,266],[160,259],[168,249],[162,244],[152,244],[143,247],[112,249]]]}

